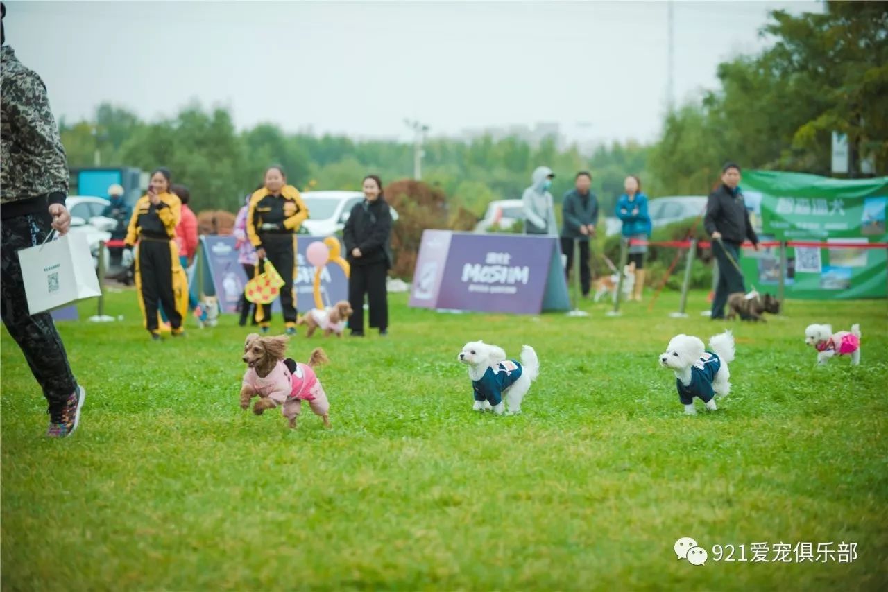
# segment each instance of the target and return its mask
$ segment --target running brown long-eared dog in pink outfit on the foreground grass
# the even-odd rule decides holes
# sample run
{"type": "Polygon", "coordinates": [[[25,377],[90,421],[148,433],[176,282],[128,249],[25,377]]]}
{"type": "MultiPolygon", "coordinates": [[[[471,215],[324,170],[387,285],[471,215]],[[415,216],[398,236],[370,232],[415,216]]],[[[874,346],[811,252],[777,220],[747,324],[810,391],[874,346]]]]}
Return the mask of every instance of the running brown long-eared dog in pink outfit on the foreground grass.
{"type": "Polygon", "coordinates": [[[320,415],[324,425],[330,427],[329,401],[321,381],[314,374],[314,367],[328,361],[321,348],[315,348],[308,364],[284,358],[287,351],[286,335],[262,337],[256,333],[247,335],[243,345],[243,361],[247,371],[241,383],[241,408],[250,407],[250,399],[259,397],[253,404],[253,413],[261,415],[266,409],[281,407],[283,416],[289,419],[289,427],[296,427],[307,401],[315,415],[320,415]]]}

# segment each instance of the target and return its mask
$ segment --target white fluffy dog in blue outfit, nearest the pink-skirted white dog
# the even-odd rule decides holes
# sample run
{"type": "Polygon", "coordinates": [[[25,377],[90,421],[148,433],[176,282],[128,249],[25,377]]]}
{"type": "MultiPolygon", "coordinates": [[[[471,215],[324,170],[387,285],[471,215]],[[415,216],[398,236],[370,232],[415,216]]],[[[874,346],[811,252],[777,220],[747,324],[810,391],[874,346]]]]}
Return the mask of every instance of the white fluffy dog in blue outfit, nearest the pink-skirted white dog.
{"type": "Polygon", "coordinates": [[[710,350],[694,335],[672,337],[660,354],[660,365],[675,371],[678,399],[685,413],[694,415],[694,397],[699,397],[710,411],[718,409],[714,397],[727,397],[731,391],[728,362],[733,362],[733,335],[730,331],[710,337],[710,350]]]}

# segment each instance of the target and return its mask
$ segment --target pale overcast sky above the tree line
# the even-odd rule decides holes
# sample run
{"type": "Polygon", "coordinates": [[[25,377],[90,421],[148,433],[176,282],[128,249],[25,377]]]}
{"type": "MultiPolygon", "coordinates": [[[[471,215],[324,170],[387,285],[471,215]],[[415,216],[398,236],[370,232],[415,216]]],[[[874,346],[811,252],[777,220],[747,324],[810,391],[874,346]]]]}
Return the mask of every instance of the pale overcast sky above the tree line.
{"type": "MultiPolygon", "coordinates": [[[[6,42],[68,122],[102,101],[147,119],[198,99],[239,128],[409,138],[559,122],[568,138],[653,139],[667,104],[668,3],[5,3],[6,42]]],[[[767,12],[822,3],[673,3],[674,88],[767,43],[767,12]]]]}

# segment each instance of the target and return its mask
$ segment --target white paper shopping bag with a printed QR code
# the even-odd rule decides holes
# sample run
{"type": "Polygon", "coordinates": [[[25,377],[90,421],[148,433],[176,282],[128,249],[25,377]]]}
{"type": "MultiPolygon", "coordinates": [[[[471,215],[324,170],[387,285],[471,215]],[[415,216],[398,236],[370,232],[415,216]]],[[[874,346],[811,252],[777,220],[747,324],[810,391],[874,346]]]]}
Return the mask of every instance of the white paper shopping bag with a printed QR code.
{"type": "Polygon", "coordinates": [[[21,249],[19,262],[31,314],[101,296],[85,234],[67,233],[55,241],[21,249]]]}

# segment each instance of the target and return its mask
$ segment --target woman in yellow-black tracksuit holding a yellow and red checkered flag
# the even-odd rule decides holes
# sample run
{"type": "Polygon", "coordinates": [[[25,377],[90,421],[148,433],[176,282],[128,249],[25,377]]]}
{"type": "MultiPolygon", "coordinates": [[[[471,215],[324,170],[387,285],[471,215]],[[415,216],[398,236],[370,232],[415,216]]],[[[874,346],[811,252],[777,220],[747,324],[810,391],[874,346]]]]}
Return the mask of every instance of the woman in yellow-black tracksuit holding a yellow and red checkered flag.
{"type": "MultiPolygon", "coordinates": [[[[296,333],[296,233],[308,217],[308,209],[296,187],[287,185],[281,167],[266,170],[265,186],[250,196],[247,209],[247,236],[256,247],[258,272],[265,271],[266,258],[281,274],[281,309],[287,335],[296,333]]],[[[262,332],[268,331],[271,304],[256,307],[256,320],[262,332]]]]}

